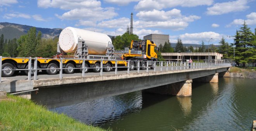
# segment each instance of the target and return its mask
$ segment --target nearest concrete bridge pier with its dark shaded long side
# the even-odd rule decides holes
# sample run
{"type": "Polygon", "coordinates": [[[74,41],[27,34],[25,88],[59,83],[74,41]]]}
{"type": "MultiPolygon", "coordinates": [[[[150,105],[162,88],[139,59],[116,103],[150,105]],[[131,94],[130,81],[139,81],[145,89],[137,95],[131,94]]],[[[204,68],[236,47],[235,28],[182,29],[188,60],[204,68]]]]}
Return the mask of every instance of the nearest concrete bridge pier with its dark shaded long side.
{"type": "Polygon", "coordinates": [[[192,79],[145,89],[145,92],[172,96],[192,96],[192,79]]]}

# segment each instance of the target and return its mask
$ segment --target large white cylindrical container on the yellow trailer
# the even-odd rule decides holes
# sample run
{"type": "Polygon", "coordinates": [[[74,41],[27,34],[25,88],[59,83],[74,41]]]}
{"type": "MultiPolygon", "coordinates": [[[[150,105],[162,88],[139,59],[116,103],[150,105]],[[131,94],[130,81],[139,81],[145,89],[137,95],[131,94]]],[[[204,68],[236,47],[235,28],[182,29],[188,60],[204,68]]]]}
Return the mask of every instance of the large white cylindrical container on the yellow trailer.
{"type": "Polygon", "coordinates": [[[111,39],[106,34],[67,27],[62,30],[59,36],[59,46],[64,52],[74,53],[77,49],[79,37],[85,40],[88,54],[92,55],[106,54],[107,45],[112,44],[111,39]]]}

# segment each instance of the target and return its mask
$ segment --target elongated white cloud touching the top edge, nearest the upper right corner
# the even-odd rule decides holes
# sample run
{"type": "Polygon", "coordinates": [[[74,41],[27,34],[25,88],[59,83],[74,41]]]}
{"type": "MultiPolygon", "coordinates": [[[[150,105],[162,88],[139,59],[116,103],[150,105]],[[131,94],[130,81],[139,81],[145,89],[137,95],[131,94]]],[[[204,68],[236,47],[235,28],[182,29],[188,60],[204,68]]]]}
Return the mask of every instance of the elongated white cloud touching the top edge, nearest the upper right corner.
{"type": "Polygon", "coordinates": [[[207,8],[208,15],[221,15],[230,12],[244,11],[247,6],[247,0],[236,0],[232,2],[215,3],[213,7],[207,8]]]}

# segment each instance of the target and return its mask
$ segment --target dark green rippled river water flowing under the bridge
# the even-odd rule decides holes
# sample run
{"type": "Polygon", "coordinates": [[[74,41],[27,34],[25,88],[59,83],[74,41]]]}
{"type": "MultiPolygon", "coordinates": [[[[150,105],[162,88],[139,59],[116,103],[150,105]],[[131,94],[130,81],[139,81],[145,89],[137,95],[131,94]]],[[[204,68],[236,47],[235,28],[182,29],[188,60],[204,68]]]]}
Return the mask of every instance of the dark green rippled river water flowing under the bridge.
{"type": "Polygon", "coordinates": [[[191,97],[136,91],[50,110],[122,131],[250,130],[255,85],[255,79],[219,78],[219,83],[192,83],[191,97]]]}

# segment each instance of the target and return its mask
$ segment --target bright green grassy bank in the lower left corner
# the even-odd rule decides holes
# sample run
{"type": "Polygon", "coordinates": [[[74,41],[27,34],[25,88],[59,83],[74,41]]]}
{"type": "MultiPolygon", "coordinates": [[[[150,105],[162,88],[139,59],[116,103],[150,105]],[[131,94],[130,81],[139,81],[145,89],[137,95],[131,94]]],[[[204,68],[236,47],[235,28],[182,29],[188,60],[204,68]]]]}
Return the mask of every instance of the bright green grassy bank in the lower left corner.
{"type": "Polygon", "coordinates": [[[0,130],[103,131],[16,96],[0,100],[0,130]]]}

